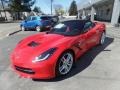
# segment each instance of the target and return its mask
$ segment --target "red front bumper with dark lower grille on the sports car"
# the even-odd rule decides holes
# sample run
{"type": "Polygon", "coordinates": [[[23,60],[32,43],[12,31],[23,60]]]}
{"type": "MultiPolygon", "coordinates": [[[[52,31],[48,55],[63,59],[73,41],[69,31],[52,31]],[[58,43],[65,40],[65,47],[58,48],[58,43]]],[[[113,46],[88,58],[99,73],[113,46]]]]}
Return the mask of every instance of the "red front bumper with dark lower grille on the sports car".
{"type": "Polygon", "coordinates": [[[50,63],[49,60],[37,64],[12,62],[12,68],[20,77],[24,78],[51,79],[55,77],[55,64],[50,63]]]}

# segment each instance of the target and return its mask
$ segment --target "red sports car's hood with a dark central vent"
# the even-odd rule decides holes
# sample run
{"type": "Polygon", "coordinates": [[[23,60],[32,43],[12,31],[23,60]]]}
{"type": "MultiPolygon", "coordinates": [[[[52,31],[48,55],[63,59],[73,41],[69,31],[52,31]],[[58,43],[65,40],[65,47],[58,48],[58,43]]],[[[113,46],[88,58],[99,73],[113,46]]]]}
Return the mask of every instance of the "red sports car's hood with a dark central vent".
{"type": "Polygon", "coordinates": [[[58,34],[40,33],[21,40],[16,46],[13,54],[19,59],[25,60],[35,58],[50,48],[55,48],[65,42],[67,37],[58,34]]]}

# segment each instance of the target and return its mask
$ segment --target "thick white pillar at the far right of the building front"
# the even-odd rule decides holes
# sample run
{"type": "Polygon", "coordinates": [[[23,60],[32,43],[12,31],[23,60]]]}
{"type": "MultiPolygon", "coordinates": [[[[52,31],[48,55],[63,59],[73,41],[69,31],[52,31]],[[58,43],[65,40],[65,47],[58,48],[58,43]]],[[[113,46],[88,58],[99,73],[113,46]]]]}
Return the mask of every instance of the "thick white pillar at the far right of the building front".
{"type": "Polygon", "coordinates": [[[111,19],[112,25],[116,26],[118,24],[119,16],[120,16],[120,0],[115,0],[111,19]]]}

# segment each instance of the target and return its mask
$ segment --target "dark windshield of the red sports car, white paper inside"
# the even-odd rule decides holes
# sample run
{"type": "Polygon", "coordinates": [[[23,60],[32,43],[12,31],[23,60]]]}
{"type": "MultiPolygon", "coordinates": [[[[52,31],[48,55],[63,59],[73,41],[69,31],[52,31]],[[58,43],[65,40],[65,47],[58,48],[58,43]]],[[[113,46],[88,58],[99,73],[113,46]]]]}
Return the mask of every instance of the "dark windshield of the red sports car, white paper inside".
{"type": "Polygon", "coordinates": [[[84,28],[84,22],[74,20],[74,21],[65,21],[57,24],[50,31],[50,33],[62,34],[62,35],[79,35],[84,28]]]}

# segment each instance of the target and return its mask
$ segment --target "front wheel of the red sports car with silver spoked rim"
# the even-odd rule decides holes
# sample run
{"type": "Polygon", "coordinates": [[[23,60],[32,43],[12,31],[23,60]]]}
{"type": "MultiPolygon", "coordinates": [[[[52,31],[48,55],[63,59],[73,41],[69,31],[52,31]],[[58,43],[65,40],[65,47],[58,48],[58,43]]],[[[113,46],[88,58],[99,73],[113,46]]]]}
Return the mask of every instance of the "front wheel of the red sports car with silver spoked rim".
{"type": "Polygon", "coordinates": [[[70,51],[64,52],[56,64],[56,77],[68,74],[74,64],[74,56],[70,51]]]}

